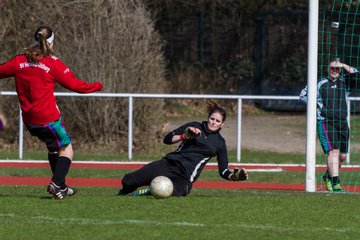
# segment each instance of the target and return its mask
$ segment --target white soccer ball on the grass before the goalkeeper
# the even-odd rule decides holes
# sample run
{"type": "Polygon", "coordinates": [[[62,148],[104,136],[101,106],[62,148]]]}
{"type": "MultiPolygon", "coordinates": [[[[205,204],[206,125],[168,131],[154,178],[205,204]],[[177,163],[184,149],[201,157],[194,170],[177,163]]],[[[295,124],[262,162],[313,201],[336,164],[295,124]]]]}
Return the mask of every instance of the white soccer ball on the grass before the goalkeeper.
{"type": "Polygon", "coordinates": [[[174,185],[168,177],[157,176],[150,183],[150,191],[156,198],[167,198],[173,193],[174,185]]]}

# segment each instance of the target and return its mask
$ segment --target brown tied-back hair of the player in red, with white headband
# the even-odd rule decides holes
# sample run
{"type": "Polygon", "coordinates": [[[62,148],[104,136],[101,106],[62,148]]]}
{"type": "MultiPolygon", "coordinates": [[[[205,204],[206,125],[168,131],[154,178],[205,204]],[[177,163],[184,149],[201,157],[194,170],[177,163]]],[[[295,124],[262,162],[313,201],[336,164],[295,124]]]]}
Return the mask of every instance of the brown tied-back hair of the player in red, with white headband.
{"type": "Polygon", "coordinates": [[[38,63],[42,57],[50,56],[53,51],[46,39],[50,38],[53,30],[48,26],[40,26],[34,33],[35,43],[25,49],[25,56],[31,63],[38,63]]]}

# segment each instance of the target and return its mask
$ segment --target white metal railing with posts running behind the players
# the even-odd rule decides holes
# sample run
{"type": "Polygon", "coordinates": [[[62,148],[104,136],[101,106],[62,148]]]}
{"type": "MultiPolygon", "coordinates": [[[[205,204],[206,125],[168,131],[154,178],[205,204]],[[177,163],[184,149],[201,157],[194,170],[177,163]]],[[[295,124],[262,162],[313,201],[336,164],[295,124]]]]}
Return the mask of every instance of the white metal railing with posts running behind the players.
{"type": "MultiPolygon", "coordinates": [[[[3,91],[0,96],[16,96],[16,92],[3,91]]],[[[231,99],[237,100],[237,144],[236,159],[241,159],[241,127],[243,100],[299,100],[298,96],[255,96],[255,95],[203,95],[203,94],[141,94],[141,93],[89,93],[78,94],[73,92],[56,92],[55,96],[62,97],[98,97],[98,98],[127,98],[128,105],[128,159],[132,159],[133,146],[133,102],[134,98],[173,98],[173,99],[231,99]]],[[[23,158],[23,122],[21,110],[19,116],[19,159],[23,158]]]]}

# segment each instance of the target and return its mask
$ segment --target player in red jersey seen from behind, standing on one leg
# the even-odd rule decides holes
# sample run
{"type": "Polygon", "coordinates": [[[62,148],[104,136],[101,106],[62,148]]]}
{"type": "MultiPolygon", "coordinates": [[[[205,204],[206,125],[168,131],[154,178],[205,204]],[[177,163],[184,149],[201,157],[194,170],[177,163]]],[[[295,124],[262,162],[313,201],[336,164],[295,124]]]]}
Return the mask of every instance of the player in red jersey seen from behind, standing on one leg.
{"type": "Polygon", "coordinates": [[[20,54],[0,65],[0,78],[14,77],[22,118],[31,135],[42,140],[49,151],[48,159],[53,172],[48,192],[56,199],[76,193],[67,187],[65,177],[73,158],[71,138],[62,124],[54,96],[55,83],[78,93],[91,93],[102,89],[99,82],[86,83],[74,73],[54,52],[55,34],[48,26],[39,27],[34,34],[35,43],[20,54]]]}

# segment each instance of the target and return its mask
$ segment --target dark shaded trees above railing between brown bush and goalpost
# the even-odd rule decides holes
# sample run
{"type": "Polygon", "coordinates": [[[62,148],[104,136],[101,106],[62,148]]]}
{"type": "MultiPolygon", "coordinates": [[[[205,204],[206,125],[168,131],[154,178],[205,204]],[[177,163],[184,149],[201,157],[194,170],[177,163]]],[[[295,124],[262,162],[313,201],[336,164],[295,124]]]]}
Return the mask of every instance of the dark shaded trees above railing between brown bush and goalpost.
{"type": "MultiPolygon", "coordinates": [[[[146,2],[166,40],[173,93],[261,94],[264,69],[288,58],[306,62],[308,1],[146,2]]],[[[295,81],[289,69],[280,75],[286,85],[295,81]]]]}

